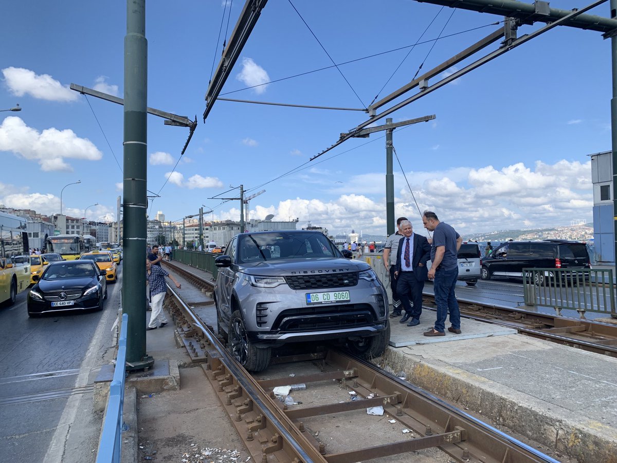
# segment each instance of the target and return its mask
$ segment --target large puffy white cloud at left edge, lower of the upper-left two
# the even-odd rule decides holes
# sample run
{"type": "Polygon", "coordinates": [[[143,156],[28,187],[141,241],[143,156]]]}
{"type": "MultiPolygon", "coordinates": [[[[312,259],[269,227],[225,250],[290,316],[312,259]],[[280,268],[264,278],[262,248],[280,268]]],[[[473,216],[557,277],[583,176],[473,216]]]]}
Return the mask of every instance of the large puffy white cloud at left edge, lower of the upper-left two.
{"type": "Polygon", "coordinates": [[[12,151],[30,161],[37,161],[41,170],[71,172],[65,158],[98,161],[103,154],[88,138],[79,138],[70,129],[47,128],[39,133],[22,119],[6,117],[0,125],[0,151],[12,151]]]}

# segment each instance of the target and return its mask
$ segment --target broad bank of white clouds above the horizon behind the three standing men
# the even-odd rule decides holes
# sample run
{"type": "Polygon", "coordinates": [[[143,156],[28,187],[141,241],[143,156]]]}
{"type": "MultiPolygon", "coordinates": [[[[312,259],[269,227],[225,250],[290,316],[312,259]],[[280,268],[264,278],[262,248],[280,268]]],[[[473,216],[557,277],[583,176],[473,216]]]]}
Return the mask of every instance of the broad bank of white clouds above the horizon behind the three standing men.
{"type": "MultiPolygon", "coordinates": [[[[395,172],[395,217],[408,217],[414,230],[424,235],[418,207],[420,211],[434,210],[463,237],[481,231],[568,225],[573,218],[592,220],[590,162],[536,162],[530,167],[517,163],[499,169],[491,165],[457,167],[406,175],[413,196],[402,173],[395,172]]],[[[328,228],[330,234],[352,228],[385,233],[384,173],[346,176],[341,178],[343,183],[336,183],[339,178],[336,172],[328,171],[294,177],[296,185],[312,181],[312,190],[337,196],[329,200],[298,197],[271,206],[260,205],[260,198],[255,198],[251,217],[263,218],[261,215],[267,212],[278,220],[299,217],[300,223],[306,223],[310,219],[312,225],[328,228]]],[[[226,218],[238,220],[239,212],[235,213],[226,218]]]]}

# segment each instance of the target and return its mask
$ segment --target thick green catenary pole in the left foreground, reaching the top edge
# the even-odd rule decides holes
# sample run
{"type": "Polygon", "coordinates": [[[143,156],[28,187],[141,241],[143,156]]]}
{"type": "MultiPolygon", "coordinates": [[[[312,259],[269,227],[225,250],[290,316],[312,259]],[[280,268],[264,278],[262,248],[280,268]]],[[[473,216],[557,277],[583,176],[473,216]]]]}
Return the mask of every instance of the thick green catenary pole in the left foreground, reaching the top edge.
{"type": "Polygon", "coordinates": [[[124,280],[122,309],[128,314],[129,369],[154,363],[146,355],[146,0],[126,1],[124,38],[124,280]]]}

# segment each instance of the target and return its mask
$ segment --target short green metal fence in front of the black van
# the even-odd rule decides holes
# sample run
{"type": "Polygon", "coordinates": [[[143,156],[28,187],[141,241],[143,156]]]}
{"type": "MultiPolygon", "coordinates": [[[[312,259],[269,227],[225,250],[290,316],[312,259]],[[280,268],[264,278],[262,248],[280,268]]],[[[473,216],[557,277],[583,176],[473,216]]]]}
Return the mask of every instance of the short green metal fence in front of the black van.
{"type": "Polygon", "coordinates": [[[528,306],[598,312],[617,318],[611,269],[523,269],[523,294],[528,306]],[[605,282],[605,283],[604,283],[605,282]]]}

